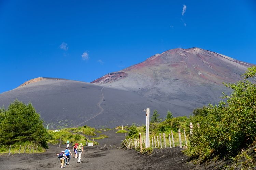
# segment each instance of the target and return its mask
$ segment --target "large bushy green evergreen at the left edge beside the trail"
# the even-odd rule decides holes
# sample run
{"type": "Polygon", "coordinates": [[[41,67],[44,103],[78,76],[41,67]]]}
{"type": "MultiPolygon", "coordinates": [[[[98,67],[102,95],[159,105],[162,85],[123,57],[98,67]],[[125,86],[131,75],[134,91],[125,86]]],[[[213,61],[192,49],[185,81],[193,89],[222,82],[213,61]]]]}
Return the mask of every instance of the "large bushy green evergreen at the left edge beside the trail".
{"type": "Polygon", "coordinates": [[[47,139],[43,121],[31,103],[26,105],[16,99],[4,111],[0,121],[0,143],[3,145],[31,141],[47,147],[47,139]]]}

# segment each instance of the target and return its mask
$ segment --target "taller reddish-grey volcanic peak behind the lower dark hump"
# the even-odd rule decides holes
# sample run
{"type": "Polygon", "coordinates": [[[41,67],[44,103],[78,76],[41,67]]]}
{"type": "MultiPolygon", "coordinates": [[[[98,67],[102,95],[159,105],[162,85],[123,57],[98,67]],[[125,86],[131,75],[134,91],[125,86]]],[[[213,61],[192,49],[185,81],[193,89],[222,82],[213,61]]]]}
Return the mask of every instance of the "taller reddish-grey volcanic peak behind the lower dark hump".
{"type": "Polygon", "coordinates": [[[174,116],[180,116],[190,114],[199,106],[220,101],[222,92],[230,92],[222,82],[241,80],[241,74],[251,66],[197,47],[173,49],[91,83],[107,84],[137,92],[152,101],[169,103],[174,116]],[[184,112],[177,108],[184,106],[187,108],[184,112]]]}

